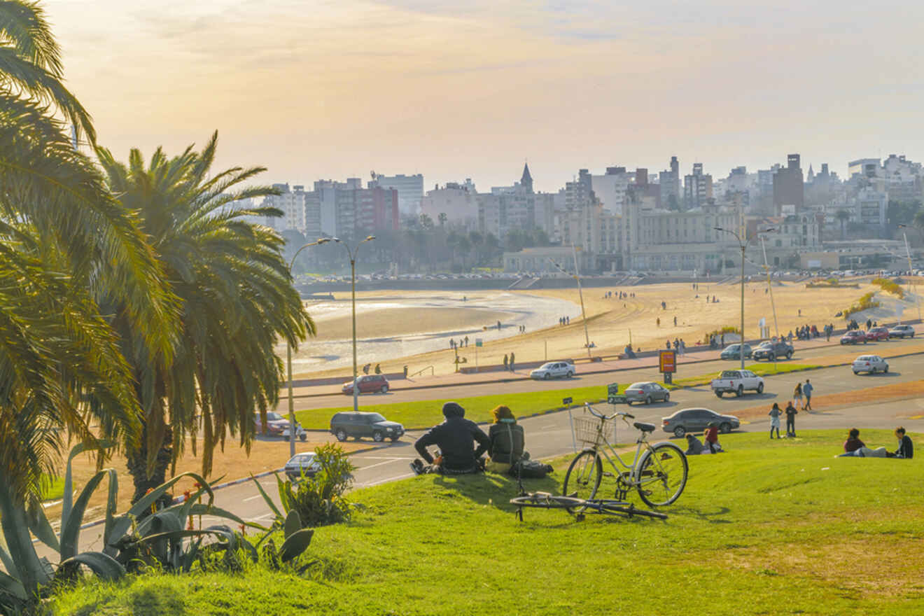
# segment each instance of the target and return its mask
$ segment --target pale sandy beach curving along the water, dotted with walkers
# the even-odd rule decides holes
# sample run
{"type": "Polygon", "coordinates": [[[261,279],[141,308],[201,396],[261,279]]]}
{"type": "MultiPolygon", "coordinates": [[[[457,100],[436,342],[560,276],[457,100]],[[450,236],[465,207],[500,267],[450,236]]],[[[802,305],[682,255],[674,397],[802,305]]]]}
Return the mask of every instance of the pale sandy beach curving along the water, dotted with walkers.
{"type": "MultiPolygon", "coordinates": [[[[773,324],[773,311],[771,296],[767,293],[766,280],[753,281],[745,288],[745,335],[755,338],[758,335],[758,321],[766,320],[766,324],[775,332],[773,324]]],[[[906,319],[916,319],[918,316],[914,299],[897,300],[894,296],[879,292],[879,287],[871,284],[860,284],[860,288],[817,288],[808,289],[805,283],[780,283],[774,281],[773,300],[776,306],[776,316],[779,332],[788,333],[797,326],[808,324],[821,328],[825,323],[833,322],[836,327],[842,327],[844,320],[834,315],[855,302],[860,296],[869,291],[876,291],[876,299],[881,302],[880,308],[870,310],[869,313],[857,315],[857,319],[866,320],[895,320],[896,314],[904,311],[906,319]],[[801,311],[801,313],[800,313],[801,311]]],[[[468,294],[469,299],[478,298],[480,302],[491,301],[492,296],[502,292],[479,292],[468,294]]],[[[517,362],[552,360],[557,358],[577,358],[587,356],[584,348],[585,333],[583,322],[580,319],[580,307],[577,289],[539,289],[529,291],[505,291],[505,295],[515,295],[527,302],[540,302],[542,300],[559,300],[570,303],[570,325],[559,326],[555,314],[548,315],[545,323],[540,327],[530,327],[526,333],[517,333],[517,328],[506,328],[501,333],[503,338],[486,339],[484,346],[478,350],[478,361],[481,366],[487,364],[500,364],[505,354],[514,353],[517,362]]],[[[363,299],[373,299],[383,294],[358,294],[363,299]]],[[[395,296],[394,292],[388,295],[395,296]]],[[[408,300],[415,297],[426,298],[440,294],[434,292],[407,292],[404,294],[408,300]]],[[[453,294],[442,294],[454,296],[453,294]]],[[[590,288],[584,291],[584,305],[587,311],[588,338],[594,346],[590,349],[593,355],[607,356],[621,353],[629,343],[631,336],[632,346],[641,350],[662,348],[665,341],[682,338],[687,347],[693,347],[702,342],[707,332],[726,325],[738,326],[740,320],[740,286],[731,284],[699,284],[693,289],[692,284],[647,284],[631,287],[590,288]],[[616,299],[618,291],[634,293],[635,297],[616,299]],[[605,298],[607,291],[614,292],[614,298],[605,298]],[[716,296],[718,302],[707,303],[706,296],[716,296]],[[661,307],[665,302],[666,309],[661,307]],[[676,325],[674,320],[676,318],[676,325]],[[658,324],[657,320],[661,323],[658,324]]],[[[407,310],[402,308],[388,308],[378,311],[375,319],[377,327],[383,330],[399,332],[423,332],[427,327],[434,329],[456,325],[456,330],[464,330],[469,326],[475,329],[483,320],[489,322],[497,319],[485,319],[477,311],[466,312],[455,309],[441,308],[434,310],[407,310]],[[424,315],[427,316],[424,316],[424,315]]],[[[498,310],[497,312],[505,312],[498,310]]],[[[366,317],[364,316],[363,319],[366,317]]],[[[499,318],[499,317],[498,317],[499,318]]],[[[535,320],[535,315],[533,316],[535,320]]],[[[502,319],[504,320],[504,319],[502,319]]],[[[507,323],[504,320],[505,325],[507,323]]],[[[325,320],[318,321],[319,338],[326,335],[325,320]]],[[[332,321],[332,329],[343,332],[346,325],[342,318],[332,321]]],[[[363,330],[365,331],[365,330],[363,330]]],[[[334,334],[331,334],[334,335],[334,334]]],[[[362,337],[362,336],[360,336],[362,337]]],[[[310,341],[300,350],[299,356],[310,355],[310,347],[316,344],[310,341]]],[[[472,346],[461,349],[460,356],[467,359],[468,365],[473,365],[475,349],[472,346]]],[[[436,374],[448,374],[455,371],[455,352],[448,348],[434,350],[428,353],[398,354],[386,357],[381,361],[383,371],[400,371],[405,365],[411,372],[427,366],[433,366],[436,374]]],[[[349,369],[337,367],[334,369],[324,367],[323,362],[315,365],[318,369],[302,370],[295,368],[300,378],[322,376],[326,374],[350,373],[349,369]]],[[[429,373],[429,370],[428,370],[429,373]]]]}

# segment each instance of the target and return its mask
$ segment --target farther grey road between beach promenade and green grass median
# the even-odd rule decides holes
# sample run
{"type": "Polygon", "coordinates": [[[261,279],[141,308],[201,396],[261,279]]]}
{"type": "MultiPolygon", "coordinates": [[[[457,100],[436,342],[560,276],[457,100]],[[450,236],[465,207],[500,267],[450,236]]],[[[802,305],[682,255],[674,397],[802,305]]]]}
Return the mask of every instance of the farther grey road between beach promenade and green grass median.
{"type": "MultiPolygon", "coordinates": [[[[907,341],[894,340],[892,342],[858,344],[856,348],[841,345],[822,346],[806,350],[799,350],[796,348],[796,355],[793,356],[792,363],[810,364],[811,360],[815,357],[839,355],[842,353],[849,354],[856,352],[857,356],[859,356],[864,354],[875,354],[886,349],[894,351],[896,348],[900,349],[903,344],[918,346],[918,340],[909,339],[907,341]]],[[[748,361],[748,363],[750,362],[748,361]]],[[[592,364],[583,364],[578,367],[578,370],[582,368],[586,369],[590,366],[592,366],[592,364]]],[[[675,378],[682,379],[713,372],[717,373],[723,369],[737,368],[737,366],[738,362],[736,361],[723,360],[705,361],[690,366],[681,365],[681,371],[675,374],[675,378]]],[[[604,387],[611,382],[628,384],[639,380],[661,380],[661,378],[661,373],[658,372],[657,368],[649,367],[635,370],[606,372],[602,374],[586,374],[583,376],[578,373],[575,378],[567,380],[514,380],[510,382],[491,382],[484,384],[459,384],[433,389],[395,390],[385,394],[376,393],[362,395],[359,397],[359,407],[360,409],[375,410],[378,405],[402,402],[441,399],[451,400],[453,398],[492,395],[496,393],[539,392],[592,386],[604,387]]],[[[605,392],[605,390],[602,390],[602,392],[605,392]]],[[[304,410],[349,406],[350,404],[349,397],[343,394],[332,394],[314,398],[297,399],[295,401],[295,408],[296,410],[304,410]]],[[[439,409],[436,410],[438,411],[439,409]]]]}

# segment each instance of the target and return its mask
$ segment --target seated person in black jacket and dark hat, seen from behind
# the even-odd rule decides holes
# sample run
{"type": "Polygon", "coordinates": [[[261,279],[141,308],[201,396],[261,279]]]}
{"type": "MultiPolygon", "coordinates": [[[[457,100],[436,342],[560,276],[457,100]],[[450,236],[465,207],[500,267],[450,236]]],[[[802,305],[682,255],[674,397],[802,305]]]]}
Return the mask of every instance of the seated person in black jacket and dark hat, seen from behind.
{"type": "MultiPolygon", "coordinates": [[[[427,461],[427,464],[433,465],[433,456],[427,451],[427,447],[430,445],[439,447],[441,456],[441,462],[438,465],[439,472],[447,475],[478,472],[480,470],[478,459],[491,447],[488,435],[482,432],[473,421],[466,419],[465,409],[455,402],[447,402],[443,405],[443,415],[445,421],[424,432],[423,436],[414,442],[414,448],[420,457],[427,461]],[[478,441],[478,449],[475,449],[475,441],[478,441]]],[[[419,460],[415,460],[411,468],[419,474],[423,470],[423,465],[419,460]]]]}

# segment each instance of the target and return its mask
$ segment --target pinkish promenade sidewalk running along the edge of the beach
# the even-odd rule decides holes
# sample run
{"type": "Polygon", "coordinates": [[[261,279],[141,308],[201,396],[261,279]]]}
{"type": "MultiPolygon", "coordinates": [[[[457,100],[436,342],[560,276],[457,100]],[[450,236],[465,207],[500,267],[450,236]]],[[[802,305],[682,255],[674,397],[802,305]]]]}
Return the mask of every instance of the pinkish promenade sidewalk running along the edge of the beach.
{"type": "MultiPolygon", "coordinates": [[[[905,323],[915,323],[913,320],[906,320],[905,323]]],[[[882,323],[883,326],[891,327],[893,322],[882,323]]],[[[922,328],[916,327],[916,332],[922,332],[922,328]]],[[[796,349],[796,356],[800,350],[817,349],[826,346],[840,346],[840,337],[846,332],[835,330],[831,336],[831,341],[826,341],[824,336],[813,338],[811,340],[793,340],[793,346],[796,349]]],[[[756,346],[760,340],[749,340],[746,344],[756,346]]],[[[687,353],[677,356],[677,364],[699,364],[708,361],[716,361],[722,354],[721,349],[713,350],[708,346],[687,347],[687,353]]],[[[605,372],[620,372],[624,370],[636,370],[639,368],[656,368],[658,366],[658,356],[640,356],[636,359],[609,359],[604,361],[584,362],[577,364],[577,374],[602,374],[605,372]]],[[[732,364],[729,364],[732,366],[732,364]]],[[[432,389],[438,387],[452,387],[456,385],[481,385],[486,383],[504,383],[514,380],[529,380],[529,368],[523,368],[514,372],[504,371],[486,371],[483,373],[463,374],[461,372],[439,377],[425,377],[418,379],[392,380],[390,387],[393,392],[406,390],[432,389]]],[[[339,385],[315,385],[310,387],[299,387],[295,390],[297,398],[311,398],[325,395],[341,393],[339,385]]],[[[281,397],[285,397],[283,391],[281,397]]],[[[348,396],[344,396],[345,399],[348,396]]]]}

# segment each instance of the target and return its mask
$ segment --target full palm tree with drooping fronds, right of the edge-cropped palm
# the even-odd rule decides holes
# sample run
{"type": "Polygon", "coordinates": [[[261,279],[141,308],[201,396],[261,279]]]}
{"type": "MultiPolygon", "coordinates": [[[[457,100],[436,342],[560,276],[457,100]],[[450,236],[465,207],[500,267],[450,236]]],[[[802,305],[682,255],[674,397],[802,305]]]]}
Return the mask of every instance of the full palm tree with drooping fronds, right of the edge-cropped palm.
{"type": "Polygon", "coordinates": [[[141,228],[181,303],[181,343],[172,364],[152,360],[122,319],[123,306],[113,306],[144,408],[143,439],[128,456],[135,500],[163,483],[187,436],[194,454],[201,436],[206,476],[226,435],[249,449],[254,412],[265,415],[273,408],[283,384],[274,345],[282,338],[297,348],[314,333],[282,257],[284,240],[245,219],[282,212],[228,207],[238,199],[276,194],[274,189],[237,188],[262,167],[213,174],[217,139],[216,132],[202,151],[190,146],[174,158],[158,149],[147,164],[138,150],[125,165],[98,149],[110,187],[126,208],[139,212],[141,228]]]}

